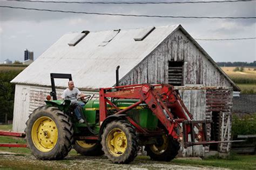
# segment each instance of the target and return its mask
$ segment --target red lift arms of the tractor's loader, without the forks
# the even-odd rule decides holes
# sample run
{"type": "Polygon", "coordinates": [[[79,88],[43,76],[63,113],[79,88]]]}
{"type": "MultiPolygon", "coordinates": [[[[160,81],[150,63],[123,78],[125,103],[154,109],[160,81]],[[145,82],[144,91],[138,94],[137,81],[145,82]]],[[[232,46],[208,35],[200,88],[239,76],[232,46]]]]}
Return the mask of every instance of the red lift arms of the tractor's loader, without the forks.
{"type": "MultiPolygon", "coordinates": [[[[170,94],[172,93],[172,91],[170,93],[170,89],[173,89],[173,87],[170,85],[150,85],[150,84],[128,85],[128,86],[119,86],[119,87],[100,89],[100,92],[99,92],[100,123],[102,123],[104,119],[107,117],[107,109],[106,109],[107,103],[110,104],[112,107],[117,108],[107,98],[139,99],[137,103],[134,103],[133,105],[125,108],[124,110],[117,110],[118,112],[116,114],[122,114],[138,106],[139,104],[146,103],[147,106],[150,108],[150,110],[157,116],[157,118],[165,126],[168,134],[172,135],[173,138],[178,139],[179,134],[177,134],[175,129],[179,126],[180,122],[177,122],[177,120],[178,121],[185,120],[186,117],[184,114],[184,117],[181,117],[182,119],[177,119],[177,120],[174,119],[173,114],[170,112],[169,107],[167,105],[169,104],[169,101],[162,99],[161,94],[170,96],[170,94]],[[113,89],[118,89],[118,91],[113,91],[113,89]]],[[[167,98],[169,99],[169,97],[166,97],[166,99],[167,98]]],[[[134,124],[133,122],[131,123],[134,124]]],[[[138,127],[138,125],[134,125],[134,126],[138,127]]]]}

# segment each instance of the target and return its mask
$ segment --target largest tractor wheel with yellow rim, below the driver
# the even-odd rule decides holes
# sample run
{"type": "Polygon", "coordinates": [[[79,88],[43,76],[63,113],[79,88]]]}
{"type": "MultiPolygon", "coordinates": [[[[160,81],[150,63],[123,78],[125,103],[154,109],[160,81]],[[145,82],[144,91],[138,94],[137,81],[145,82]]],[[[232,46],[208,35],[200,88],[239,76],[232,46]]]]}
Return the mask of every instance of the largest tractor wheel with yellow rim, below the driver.
{"type": "Polygon", "coordinates": [[[57,107],[42,106],[33,111],[25,132],[28,146],[38,159],[63,159],[72,148],[72,122],[57,107]]]}

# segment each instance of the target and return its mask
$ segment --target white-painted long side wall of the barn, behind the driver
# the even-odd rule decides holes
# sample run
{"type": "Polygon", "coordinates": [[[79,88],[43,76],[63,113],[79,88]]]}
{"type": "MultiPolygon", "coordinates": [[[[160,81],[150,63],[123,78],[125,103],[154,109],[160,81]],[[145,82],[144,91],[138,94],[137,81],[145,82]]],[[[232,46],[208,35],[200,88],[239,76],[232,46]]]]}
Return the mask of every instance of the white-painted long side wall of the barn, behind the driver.
{"type": "MultiPolygon", "coordinates": [[[[64,89],[56,89],[57,98],[61,99],[60,96],[64,89]]],[[[80,90],[85,94],[96,94],[95,98],[98,97],[97,91],[85,91],[80,90]]],[[[15,86],[15,106],[14,107],[14,124],[12,130],[15,132],[24,132],[25,123],[28,120],[29,114],[36,108],[45,105],[44,100],[51,92],[50,87],[43,86],[30,86],[30,85],[18,85],[15,86]]]]}

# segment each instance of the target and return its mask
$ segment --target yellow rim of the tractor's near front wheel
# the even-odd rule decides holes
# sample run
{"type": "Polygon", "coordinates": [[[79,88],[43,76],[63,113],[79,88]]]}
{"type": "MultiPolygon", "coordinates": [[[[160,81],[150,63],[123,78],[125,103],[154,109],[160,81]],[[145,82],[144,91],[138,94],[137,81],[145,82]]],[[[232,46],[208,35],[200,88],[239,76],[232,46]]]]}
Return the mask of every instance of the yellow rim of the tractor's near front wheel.
{"type": "Polygon", "coordinates": [[[106,138],[109,152],[115,157],[124,154],[127,148],[127,138],[125,133],[120,128],[113,128],[106,138]]]}

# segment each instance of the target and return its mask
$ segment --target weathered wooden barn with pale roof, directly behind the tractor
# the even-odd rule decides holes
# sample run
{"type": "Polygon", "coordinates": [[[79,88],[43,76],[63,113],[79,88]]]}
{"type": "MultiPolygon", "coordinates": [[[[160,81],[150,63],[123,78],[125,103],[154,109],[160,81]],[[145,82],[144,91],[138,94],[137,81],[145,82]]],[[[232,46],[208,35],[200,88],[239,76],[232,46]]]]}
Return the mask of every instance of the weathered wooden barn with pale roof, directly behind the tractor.
{"type": "MultiPolygon", "coordinates": [[[[118,65],[120,85],[175,85],[196,120],[214,121],[213,140],[231,139],[232,93],[240,89],[181,25],[62,36],[11,81],[16,84],[14,131],[23,131],[28,115],[44,105],[50,73],[71,73],[80,90],[98,94],[99,87],[116,84],[118,65]]],[[[67,81],[56,85],[60,97],[67,81]]],[[[181,153],[204,156],[211,150],[227,153],[230,144],[193,146],[181,153]]]]}

